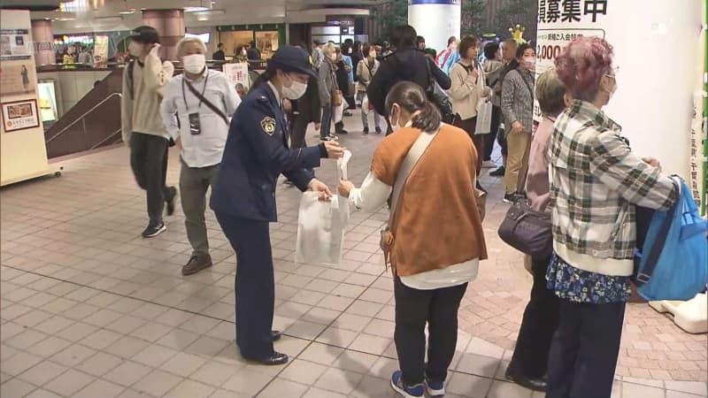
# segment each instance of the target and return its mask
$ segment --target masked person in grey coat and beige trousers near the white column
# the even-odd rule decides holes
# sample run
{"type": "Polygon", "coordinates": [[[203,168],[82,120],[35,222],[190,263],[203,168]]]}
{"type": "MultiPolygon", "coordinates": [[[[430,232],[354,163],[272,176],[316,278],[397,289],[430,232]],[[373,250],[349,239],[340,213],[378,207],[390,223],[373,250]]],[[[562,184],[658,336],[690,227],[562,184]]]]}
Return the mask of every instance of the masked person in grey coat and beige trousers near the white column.
{"type": "Polygon", "coordinates": [[[521,44],[516,50],[519,66],[504,76],[502,84],[502,113],[506,123],[506,157],[504,174],[504,203],[514,203],[524,196],[528,149],[534,125],[534,73],[535,50],[528,44],[521,44]]]}

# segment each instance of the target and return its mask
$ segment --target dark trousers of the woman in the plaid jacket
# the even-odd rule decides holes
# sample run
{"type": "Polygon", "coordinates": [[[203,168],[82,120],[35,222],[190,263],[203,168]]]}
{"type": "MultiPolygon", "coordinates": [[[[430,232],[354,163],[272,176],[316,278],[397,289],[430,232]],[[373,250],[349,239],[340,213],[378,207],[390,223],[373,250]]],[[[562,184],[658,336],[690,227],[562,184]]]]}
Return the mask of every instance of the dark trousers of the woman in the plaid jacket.
{"type": "Polygon", "coordinates": [[[625,302],[560,302],[546,398],[610,398],[625,307],[625,302]]]}

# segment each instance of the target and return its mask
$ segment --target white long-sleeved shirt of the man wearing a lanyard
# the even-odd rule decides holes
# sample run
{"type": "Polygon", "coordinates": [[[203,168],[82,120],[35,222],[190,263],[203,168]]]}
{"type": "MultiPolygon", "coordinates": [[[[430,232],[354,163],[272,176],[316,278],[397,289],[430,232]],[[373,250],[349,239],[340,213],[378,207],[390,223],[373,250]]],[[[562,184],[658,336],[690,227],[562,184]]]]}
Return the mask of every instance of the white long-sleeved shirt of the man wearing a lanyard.
{"type": "MultiPolygon", "coordinates": [[[[181,139],[181,158],[189,167],[219,165],[227,142],[228,125],[219,114],[197,98],[183,81],[184,74],[175,76],[165,88],[160,114],[174,141],[181,139]],[[189,114],[199,114],[200,134],[191,134],[189,114]],[[176,114],[176,117],[175,117],[176,114]],[[177,118],[180,125],[177,126],[177,118]]],[[[217,106],[227,118],[236,111],[241,98],[224,73],[207,69],[197,80],[188,80],[204,98],[217,106]]]]}

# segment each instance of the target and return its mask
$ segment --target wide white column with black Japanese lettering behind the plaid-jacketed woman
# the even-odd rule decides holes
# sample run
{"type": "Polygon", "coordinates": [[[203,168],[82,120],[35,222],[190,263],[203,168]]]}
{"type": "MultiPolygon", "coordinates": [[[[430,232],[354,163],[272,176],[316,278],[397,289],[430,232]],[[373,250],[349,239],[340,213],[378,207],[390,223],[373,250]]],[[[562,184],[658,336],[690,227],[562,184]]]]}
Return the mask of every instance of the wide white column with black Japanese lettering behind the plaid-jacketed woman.
{"type": "Polygon", "coordinates": [[[657,157],[665,172],[689,180],[692,96],[700,83],[696,45],[704,3],[539,0],[536,73],[552,67],[574,37],[592,35],[610,42],[619,89],[604,111],[622,126],[637,155],[657,157]],[[668,61],[648,55],[668,53],[681,56],[668,61]]]}

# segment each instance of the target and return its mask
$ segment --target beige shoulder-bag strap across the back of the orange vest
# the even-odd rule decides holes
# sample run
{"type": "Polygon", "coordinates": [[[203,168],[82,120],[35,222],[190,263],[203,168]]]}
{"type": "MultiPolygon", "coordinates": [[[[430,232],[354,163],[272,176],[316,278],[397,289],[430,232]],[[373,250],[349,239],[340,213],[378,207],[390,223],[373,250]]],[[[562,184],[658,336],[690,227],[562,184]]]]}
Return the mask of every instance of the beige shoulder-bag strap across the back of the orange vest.
{"type": "MultiPolygon", "coordinates": [[[[406,182],[408,182],[408,176],[411,175],[411,172],[415,165],[418,164],[420,157],[423,156],[427,147],[430,145],[430,142],[433,142],[435,136],[437,136],[439,132],[440,129],[438,129],[435,133],[421,133],[418,139],[413,143],[411,149],[408,150],[408,154],[405,156],[404,162],[398,170],[398,174],[396,174],[396,182],[393,185],[393,193],[391,193],[389,224],[386,228],[381,230],[380,245],[381,251],[383,251],[384,265],[387,270],[389,269],[390,264],[391,249],[393,249],[394,242],[396,241],[393,231],[396,229],[396,215],[398,204],[401,201],[401,193],[403,192],[406,182]]],[[[393,268],[393,266],[391,268],[393,268]]]]}

